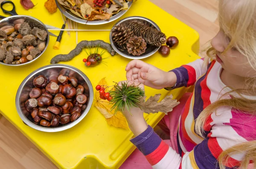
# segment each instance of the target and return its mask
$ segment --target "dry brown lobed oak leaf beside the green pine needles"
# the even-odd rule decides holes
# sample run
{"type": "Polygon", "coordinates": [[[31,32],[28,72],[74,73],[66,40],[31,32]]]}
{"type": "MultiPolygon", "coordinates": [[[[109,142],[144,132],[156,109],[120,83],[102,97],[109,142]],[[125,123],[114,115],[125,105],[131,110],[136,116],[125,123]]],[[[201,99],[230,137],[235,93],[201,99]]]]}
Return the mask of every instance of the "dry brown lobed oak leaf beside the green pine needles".
{"type": "Polygon", "coordinates": [[[138,107],[143,110],[145,113],[157,113],[163,112],[167,115],[168,112],[171,112],[172,109],[177,106],[180,102],[172,99],[172,95],[166,96],[163,100],[158,103],[161,94],[154,95],[154,97],[149,97],[147,101],[145,101],[146,96],[140,98],[140,103],[138,103],[138,107]]]}

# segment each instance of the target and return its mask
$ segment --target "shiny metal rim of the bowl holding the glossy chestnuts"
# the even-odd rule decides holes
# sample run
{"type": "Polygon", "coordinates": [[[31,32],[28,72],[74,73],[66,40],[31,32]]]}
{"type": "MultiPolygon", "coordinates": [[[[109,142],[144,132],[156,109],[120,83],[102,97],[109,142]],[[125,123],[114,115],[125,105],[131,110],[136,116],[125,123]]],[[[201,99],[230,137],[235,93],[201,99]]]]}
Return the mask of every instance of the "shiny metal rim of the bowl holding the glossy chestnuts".
{"type": "Polygon", "coordinates": [[[70,129],[71,127],[75,126],[76,124],[78,124],[89,112],[90,107],[92,106],[93,103],[93,87],[92,84],[89,80],[89,78],[83,73],[81,72],[79,69],[73,67],[73,66],[69,66],[69,65],[64,65],[64,64],[58,64],[58,65],[47,65],[47,66],[43,66],[37,70],[35,70],[34,72],[30,73],[20,84],[18,90],[17,90],[17,94],[16,94],[16,98],[15,98],[15,104],[16,104],[16,109],[17,112],[21,118],[21,120],[23,120],[24,123],[26,123],[26,125],[32,127],[33,129],[42,131],[42,132],[60,132],[60,131],[64,131],[66,129],[70,129]],[[51,68],[67,68],[67,69],[71,69],[73,71],[75,71],[76,73],[78,73],[81,77],[84,78],[84,81],[87,83],[87,86],[89,87],[89,102],[87,103],[87,107],[84,109],[84,112],[81,113],[81,116],[73,121],[72,123],[69,123],[65,126],[61,126],[61,127],[56,127],[56,128],[47,128],[47,127],[42,127],[42,126],[38,126],[34,123],[32,123],[29,119],[27,119],[27,117],[23,114],[21,107],[20,107],[20,95],[21,95],[21,91],[23,89],[23,87],[25,86],[25,84],[27,83],[27,81],[33,77],[35,74],[42,72],[44,70],[47,69],[51,69],[51,68]]]}

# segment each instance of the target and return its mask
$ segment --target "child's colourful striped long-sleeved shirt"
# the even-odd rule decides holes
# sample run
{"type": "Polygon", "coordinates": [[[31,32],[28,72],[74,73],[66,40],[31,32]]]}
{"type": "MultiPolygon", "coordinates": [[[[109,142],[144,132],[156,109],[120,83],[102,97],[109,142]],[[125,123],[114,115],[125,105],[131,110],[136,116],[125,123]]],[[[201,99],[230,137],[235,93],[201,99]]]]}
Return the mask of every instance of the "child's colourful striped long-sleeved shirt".
{"type": "MultiPolygon", "coordinates": [[[[153,169],[216,169],[219,168],[218,156],[221,152],[236,144],[256,140],[256,117],[229,106],[219,107],[207,118],[203,126],[205,139],[195,133],[195,119],[203,109],[231,90],[221,81],[220,63],[213,60],[204,69],[203,62],[203,59],[198,59],[172,70],[177,76],[173,89],[195,85],[179,118],[179,154],[163,142],[151,126],[131,140],[153,169]]],[[[244,97],[256,99],[253,96],[244,97]]],[[[230,95],[222,98],[228,99],[230,95]]],[[[230,155],[226,168],[236,168],[243,157],[242,152],[230,155]]]]}

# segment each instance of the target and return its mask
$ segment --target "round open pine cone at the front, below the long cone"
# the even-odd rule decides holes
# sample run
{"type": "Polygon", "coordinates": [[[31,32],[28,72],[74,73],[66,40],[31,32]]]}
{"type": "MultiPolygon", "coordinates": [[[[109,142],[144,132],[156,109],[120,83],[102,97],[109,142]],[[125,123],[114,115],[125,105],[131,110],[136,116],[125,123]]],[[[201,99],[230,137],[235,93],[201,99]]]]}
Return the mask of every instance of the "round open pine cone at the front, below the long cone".
{"type": "Polygon", "coordinates": [[[145,53],[147,49],[147,43],[145,43],[145,40],[142,37],[137,36],[130,37],[126,45],[128,53],[134,56],[140,56],[145,53]]]}

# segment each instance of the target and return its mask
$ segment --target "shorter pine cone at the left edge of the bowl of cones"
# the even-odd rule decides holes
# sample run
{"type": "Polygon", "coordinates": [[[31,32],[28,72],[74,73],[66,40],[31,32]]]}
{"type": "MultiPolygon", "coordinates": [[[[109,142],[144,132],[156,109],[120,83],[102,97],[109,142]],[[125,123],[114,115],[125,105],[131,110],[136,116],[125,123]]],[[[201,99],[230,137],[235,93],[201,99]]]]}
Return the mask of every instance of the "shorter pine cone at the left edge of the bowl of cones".
{"type": "Polygon", "coordinates": [[[112,29],[113,42],[117,44],[117,46],[121,46],[121,48],[122,45],[124,45],[128,41],[131,35],[131,29],[128,29],[126,26],[122,24],[119,24],[112,29]]]}

